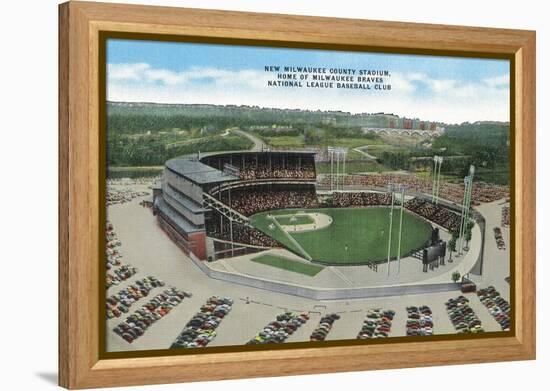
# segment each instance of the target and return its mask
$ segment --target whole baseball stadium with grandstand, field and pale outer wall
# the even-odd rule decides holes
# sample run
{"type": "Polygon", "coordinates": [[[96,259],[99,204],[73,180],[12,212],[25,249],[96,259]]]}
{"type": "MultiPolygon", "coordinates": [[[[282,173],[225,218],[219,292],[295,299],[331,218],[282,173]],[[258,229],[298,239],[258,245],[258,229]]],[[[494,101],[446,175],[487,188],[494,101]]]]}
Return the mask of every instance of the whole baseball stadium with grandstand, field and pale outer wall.
{"type": "MultiPolygon", "coordinates": [[[[362,281],[362,290],[340,286],[348,279],[348,267],[354,267],[353,273],[369,270],[388,276],[401,274],[403,266],[404,275],[395,283],[403,291],[402,283],[421,280],[445,264],[446,242],[453,232],[464,234],[466,221],[478,232],[476,216],[467,217],[461,205],[440,199],[437,183],[431,195],[407,187],[406,177],[403,183],[396,177],[353,186],[345,183],[350,177],[343,172],[344,151],[327,153],[339,172],[323,181],[317,179],[315,151],[216,152],[171,159],[154,190],[153,213],[207,273],[306,297],[327,295],[325,288],[337,288],[332,298],[394,292],[388,286],[385,291],[369,289],[387,285],[381,277],[362,281]],[[254,272],[246,265],[253,265],[254,272]],[[242,273],[234,273],[243,267],[242,273]],[[344,278],[324,284],[316,275],[326,267],[344,278]],[[417,270],[409,273],[411,268],[417,270]],[[266,284],[270,276],[281,275],[282,281],[266,284]],[[304,275],[310,278],[307,291],[294,284],[304,275]]],[[[480,249],[478,239],[481,235],[474,240],[480,249]]],[[[481,251],[470,254],[470,270],[480,270],[481,251]]]]}

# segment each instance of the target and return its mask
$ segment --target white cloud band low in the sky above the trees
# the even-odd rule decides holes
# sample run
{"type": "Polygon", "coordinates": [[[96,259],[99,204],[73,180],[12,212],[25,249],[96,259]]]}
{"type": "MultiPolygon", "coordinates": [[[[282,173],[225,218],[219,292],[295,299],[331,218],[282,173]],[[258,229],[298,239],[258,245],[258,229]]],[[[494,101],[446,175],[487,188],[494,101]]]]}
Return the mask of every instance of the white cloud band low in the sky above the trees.
{"type": "Polygon", "coordinates": [[[110,64],[112,101],[235,104],[290,109],[393,112],[426,120],[459,123],[509,120],[504,77],[461,83],[422,73],[392,73],[391,92],[267,87],[263,70],[191,67],[181,72],[148,64],[110,64]]]}

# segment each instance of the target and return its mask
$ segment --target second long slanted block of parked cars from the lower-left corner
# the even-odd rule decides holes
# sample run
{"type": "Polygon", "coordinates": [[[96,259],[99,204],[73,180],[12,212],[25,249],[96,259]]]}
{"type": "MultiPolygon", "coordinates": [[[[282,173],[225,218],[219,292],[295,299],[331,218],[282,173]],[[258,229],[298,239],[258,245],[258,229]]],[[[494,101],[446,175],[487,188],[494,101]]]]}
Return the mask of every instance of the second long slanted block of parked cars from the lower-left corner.
{"type": "Polygon", "coordinates": [[[176,288],[166,289],[126,318],[124,322],[118,324],[113,331],[126,342],[132,343],[141,337],[153,323],[168,315],[184,298],[190,296],[189,293],[176,288]]]}

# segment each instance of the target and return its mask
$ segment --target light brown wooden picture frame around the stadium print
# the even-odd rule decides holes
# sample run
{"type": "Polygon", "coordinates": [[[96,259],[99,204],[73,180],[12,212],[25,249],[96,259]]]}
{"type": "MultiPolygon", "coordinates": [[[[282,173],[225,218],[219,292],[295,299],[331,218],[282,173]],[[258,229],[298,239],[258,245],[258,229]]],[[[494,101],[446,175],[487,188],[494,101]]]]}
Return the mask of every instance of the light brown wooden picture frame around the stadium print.
{"type": "MultiPolygon", "coordinates": [[[[102,150],[103,149],[103,150],[102,150]]],[[[59,384],[70,389],[535,358],[535,32],[68,2],[59,7],[59,384]],[[515,64],[514,329],[503,338],[102,358],[99,351],[101,32],[415,54],[515,64]],[[464,354],[457,354],[457,352],[464,354]],[[216,366],[215,372],[208,369],[216,366]]]]}

